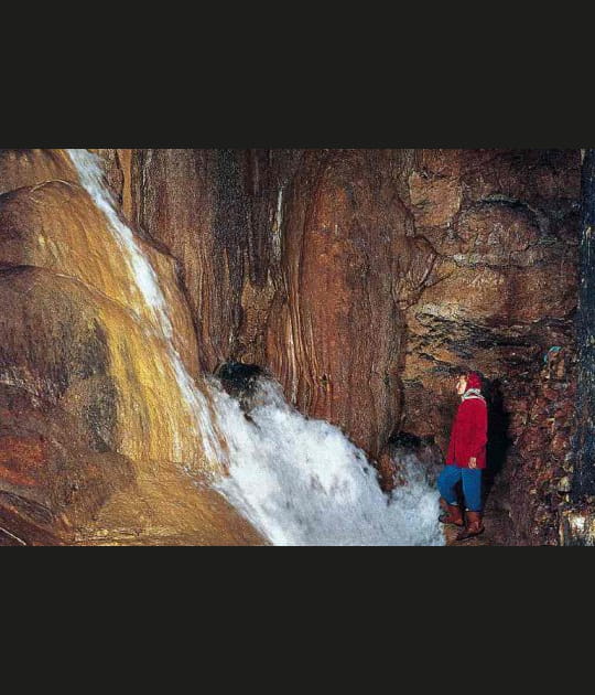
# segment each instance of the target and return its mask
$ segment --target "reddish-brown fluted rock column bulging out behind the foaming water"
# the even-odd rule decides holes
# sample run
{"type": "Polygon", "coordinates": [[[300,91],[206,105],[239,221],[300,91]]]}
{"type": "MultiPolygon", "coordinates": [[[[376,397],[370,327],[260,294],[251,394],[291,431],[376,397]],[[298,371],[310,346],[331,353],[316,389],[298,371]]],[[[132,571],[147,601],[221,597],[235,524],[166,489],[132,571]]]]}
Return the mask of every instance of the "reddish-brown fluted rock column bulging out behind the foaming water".
{"type": "Polygon", "coordinates": [[[402,167],[390,151],[304,156],[268,323],[268,364],[292,402],[372,456],[401,415],[401,304],[432,256],[399,197],[402,167]]]}

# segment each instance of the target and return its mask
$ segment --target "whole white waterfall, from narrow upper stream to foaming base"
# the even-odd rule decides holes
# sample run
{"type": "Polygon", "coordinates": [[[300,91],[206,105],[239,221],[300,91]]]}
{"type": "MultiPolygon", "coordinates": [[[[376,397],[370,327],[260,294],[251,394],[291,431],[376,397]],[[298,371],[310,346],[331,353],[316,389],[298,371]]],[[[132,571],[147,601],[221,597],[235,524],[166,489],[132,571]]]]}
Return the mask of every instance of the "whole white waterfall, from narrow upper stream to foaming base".
{"type": "Polygon", "coordinates": [[[117,212],[100,159],[88,150],[68,153],[122,249],[153,317],[151,330],[161,332],[167,344],[181,397],[194,414],[196,436],[206,440],[207,456],[228,469],[229,475],[214,487],[273,544],[442,545],[437,493],[413,459],[405,461],[408,484],[388,498],[364,452],[338,428],[298,413],[279,385],[260,381],[260,404],[250,418],[216,379],[208,379],[206,394],[198,388],[173,345],[158,276],[117,212]]]}

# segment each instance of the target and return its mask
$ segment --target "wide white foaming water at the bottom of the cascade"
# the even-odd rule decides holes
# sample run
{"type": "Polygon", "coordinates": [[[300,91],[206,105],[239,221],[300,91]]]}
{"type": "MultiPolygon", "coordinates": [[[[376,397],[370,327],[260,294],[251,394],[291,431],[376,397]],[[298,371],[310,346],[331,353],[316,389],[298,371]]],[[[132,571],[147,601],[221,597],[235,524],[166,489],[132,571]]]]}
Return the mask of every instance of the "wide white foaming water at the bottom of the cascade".
{"type": "Polygon", "coordinates": [[[443,545],[437,492],[416,460],[408,483],[383,494],[364,452],[338,429],[292,408],[281,387],[261,381],[248,421],[216,396],[231,449],[217,488],[275,545],[443,545]]]}

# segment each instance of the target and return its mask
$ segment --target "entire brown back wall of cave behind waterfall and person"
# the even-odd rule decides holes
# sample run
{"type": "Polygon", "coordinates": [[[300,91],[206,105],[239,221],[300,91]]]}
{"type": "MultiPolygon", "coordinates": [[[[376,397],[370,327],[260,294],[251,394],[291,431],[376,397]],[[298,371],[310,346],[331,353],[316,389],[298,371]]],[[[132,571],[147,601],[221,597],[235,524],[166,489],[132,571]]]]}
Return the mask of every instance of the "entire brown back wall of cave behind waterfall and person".
{"type": "MultiPolygon", "coordinates": [[[[570,345],[580,163],[570,150],[143,150],[129,197],[181,260],[203,366],[267,367],[377,457],[398,430],[445,448],[461,363],[485,375],[502,430],[539,356],[570,345]]],[[[501,459],[509,441],[495,439],[501,459]]]]}

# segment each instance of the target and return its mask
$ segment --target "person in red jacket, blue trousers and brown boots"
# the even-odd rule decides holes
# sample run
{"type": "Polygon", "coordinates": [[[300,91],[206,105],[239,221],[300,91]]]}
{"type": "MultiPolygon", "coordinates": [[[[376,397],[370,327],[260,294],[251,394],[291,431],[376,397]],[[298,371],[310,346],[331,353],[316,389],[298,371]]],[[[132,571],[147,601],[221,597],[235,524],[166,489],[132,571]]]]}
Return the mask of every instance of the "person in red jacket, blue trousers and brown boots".
{"type": "Polygon", "coordinates": [[[458,374],[456,393],[461,404],[451,430],[445,467],[439,477],[443,524],[464,526],[457,541],[483,533],[482,471],[486,468],[487,404],[477,372],[458,374]],[[465,515],[458,505],[455,485],[463,483],[465,515]]]}

